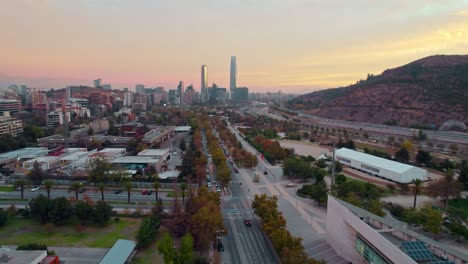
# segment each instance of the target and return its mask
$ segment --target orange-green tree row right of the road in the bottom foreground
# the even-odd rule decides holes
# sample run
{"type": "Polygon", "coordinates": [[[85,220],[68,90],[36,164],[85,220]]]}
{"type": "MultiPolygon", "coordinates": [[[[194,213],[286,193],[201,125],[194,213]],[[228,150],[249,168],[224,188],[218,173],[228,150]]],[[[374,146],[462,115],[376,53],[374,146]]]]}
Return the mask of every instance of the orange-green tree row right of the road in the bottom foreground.
{"type": "Polygon", "coordinates": [[[262,228],[273,243],[281,263],[324,263],[309,258],[301,244],[302,239],[293,237],[286,229],[286,219],[278,210],[278,198],[276,196],[255,195],[252,208],[255,214],[261,218],[262,228]]]}

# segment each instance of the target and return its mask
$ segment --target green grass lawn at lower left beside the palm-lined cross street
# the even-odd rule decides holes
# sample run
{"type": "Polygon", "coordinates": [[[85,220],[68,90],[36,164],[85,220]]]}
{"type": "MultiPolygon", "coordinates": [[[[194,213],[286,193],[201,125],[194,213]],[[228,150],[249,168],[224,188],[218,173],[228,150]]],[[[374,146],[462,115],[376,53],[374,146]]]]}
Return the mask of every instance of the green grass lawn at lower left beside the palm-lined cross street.
{"type": "Polygon", "coordinates": [[[36,220],[13,218],[0,228],[3,245],[40,243],[60,247],[110,248],[118,239],[134,240],[141,219],[120,218],[106,227],[87,226],[77,232],[73,225],[40,225],[36,220]]]}

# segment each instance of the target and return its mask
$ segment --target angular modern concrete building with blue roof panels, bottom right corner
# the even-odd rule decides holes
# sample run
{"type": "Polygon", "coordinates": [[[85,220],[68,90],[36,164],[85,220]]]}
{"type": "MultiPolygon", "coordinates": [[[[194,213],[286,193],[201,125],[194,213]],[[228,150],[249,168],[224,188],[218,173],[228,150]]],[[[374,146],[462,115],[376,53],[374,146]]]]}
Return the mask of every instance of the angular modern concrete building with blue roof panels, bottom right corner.
{"type": "Polygon", "coordinates": [[[328,244],[350,263],[463,264],[468,255],[332,196],[327,203],[328,244]]]}

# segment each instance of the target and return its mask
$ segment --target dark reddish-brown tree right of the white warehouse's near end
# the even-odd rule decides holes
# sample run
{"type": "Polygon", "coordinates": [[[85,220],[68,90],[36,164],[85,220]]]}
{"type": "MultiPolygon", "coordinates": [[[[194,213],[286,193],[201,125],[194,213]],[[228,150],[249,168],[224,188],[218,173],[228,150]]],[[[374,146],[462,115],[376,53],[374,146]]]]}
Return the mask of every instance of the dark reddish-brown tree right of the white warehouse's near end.
{"type": "Polygon", "coordinates": [[[453,171],[449,169],[444,178],[429,184],[426,192],[431,197],[441,197],[444,200],[444,207],[447,207],[449,198],[459,196],[461,189],[461,183],[454,180],[453,171]]]}

